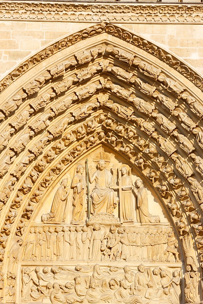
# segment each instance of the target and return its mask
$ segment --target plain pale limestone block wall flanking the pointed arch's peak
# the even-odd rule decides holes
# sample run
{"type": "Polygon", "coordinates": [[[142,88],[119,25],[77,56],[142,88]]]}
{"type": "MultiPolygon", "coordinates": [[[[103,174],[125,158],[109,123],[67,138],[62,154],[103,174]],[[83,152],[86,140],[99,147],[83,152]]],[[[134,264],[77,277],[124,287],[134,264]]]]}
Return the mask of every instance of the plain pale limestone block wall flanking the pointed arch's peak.
{"type": "MultiPolygon", "coordinates": [[[[118,25],[118,23],[117,23],[118,25]]],[[[203,74],[203,25],[121,24],[173,52],[203,74]]],[[[61,37],[90,26],[70,22],[0,22],[0,78],[61,37]]]]}

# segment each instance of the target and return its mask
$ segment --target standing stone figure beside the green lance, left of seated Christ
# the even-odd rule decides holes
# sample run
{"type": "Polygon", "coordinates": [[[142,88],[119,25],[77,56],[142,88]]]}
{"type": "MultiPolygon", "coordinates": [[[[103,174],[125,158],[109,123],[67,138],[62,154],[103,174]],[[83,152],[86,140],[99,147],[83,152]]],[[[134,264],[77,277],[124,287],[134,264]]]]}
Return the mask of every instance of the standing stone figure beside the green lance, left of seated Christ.
{"type": "Polygon", "coordinates": [[[74,175],[71,183],[73,189],[73,216],[74,224],[83,222],[86,204],[87,184],[84,176],[84,165],[78,164],[76,167],[76,174],[74,175]]]}

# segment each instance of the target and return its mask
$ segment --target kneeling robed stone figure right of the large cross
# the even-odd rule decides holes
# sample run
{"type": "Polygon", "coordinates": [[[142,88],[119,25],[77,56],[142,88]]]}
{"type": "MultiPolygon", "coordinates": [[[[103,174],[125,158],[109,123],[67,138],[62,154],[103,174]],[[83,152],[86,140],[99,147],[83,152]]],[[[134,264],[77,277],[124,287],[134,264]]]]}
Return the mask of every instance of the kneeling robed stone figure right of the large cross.
{"type": "Polygon", "coordinates": [[[136,187],[138,188],[135,192],[137,197],[137,220],[140,223],[160,223],[159,216],[153,216],[149,213],[147,191],[139,178],[136,180],[136,187]]]}

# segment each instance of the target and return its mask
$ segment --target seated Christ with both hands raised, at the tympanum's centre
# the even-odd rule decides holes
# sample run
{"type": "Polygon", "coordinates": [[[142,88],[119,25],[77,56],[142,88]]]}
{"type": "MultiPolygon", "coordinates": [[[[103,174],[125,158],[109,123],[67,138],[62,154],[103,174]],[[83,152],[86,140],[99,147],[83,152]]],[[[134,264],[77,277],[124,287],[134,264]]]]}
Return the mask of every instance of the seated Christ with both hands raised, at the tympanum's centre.
{"type": "Polygon", "coordinates": [[[88,169],[89,181],[96,182],[95,188],[92,191],[91,199],[94,214],[106,212],[114,216],[113,210],[116,206],[116,195],[110,187],[115,183],[116,169],[113,165],[112,172],[106,169],[105,160],[101,159],[97,164],[98,170],[92,175],[91,166],[88,169]]]}

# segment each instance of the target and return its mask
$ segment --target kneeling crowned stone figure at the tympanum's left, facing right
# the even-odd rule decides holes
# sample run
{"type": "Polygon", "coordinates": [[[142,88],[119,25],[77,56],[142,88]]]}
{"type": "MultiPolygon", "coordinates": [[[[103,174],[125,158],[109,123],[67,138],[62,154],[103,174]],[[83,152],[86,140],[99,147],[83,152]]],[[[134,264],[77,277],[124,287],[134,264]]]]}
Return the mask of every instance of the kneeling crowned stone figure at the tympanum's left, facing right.
{"type": "Polygon", "coordinates": [[[68,183],[67,178],[61,181],[60,183],[61,185],[57,189],[57,192],[54,195],[51,211],[49,213],[42,215],[43,222],[52,222],[52,223],[65,222],[68,211],[67,198],[70,193],[70,189],[66,190],[67,183],[68,183]]]}

